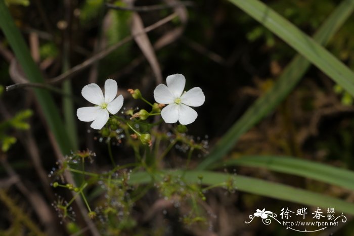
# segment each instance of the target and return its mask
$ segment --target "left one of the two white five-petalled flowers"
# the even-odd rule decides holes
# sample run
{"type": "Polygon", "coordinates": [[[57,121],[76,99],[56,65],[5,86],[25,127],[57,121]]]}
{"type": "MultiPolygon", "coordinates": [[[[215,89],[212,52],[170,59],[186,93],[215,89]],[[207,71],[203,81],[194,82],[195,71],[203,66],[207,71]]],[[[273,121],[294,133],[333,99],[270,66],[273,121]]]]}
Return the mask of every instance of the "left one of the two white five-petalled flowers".
{"type": "Polygon", "coordinates": [[[107,123],[109,113],[116,114],[123,106],[123,96],[117,96],[117,82],[113,79],[107,79],[105,82],[105,96],[101,88],[96,83],[84,86],[81,95],[95,107],[81,107],[77,109],[77,118],[81,121],[94,121],[91,127],[94,129],[102,129],[107,123]]]}

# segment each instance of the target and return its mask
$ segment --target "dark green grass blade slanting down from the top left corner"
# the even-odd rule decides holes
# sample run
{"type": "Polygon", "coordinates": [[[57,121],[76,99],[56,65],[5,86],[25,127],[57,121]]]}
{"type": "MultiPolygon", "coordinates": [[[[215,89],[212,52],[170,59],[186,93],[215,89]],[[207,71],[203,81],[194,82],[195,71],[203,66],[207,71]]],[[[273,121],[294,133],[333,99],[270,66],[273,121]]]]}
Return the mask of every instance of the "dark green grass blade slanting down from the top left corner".
{"type": "MultiPolygon", "coordinates": [[[[0,0],[0,27],[13,49],[18,62],[30,82],[43,83],[44,79],[34,63],[26,43],[16,27],[4,0],[0,0]]],[[[59,112],[50,93],[41,88],[33,88],[36,99],[43,111],[49,128],[53,132],[60,150],[63,154],[69,154],[71,144],[68,135],[60,119],[59,112]]]]}

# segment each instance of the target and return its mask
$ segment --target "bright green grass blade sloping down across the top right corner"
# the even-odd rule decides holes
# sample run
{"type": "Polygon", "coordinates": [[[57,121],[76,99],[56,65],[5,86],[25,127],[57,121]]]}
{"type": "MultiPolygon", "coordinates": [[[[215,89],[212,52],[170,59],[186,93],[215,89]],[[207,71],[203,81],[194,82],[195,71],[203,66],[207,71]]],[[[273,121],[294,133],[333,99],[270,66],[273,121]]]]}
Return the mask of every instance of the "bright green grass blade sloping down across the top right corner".
{"type": "MultiPolygon", "coordinates": [[[[354,73],[313,38],[258,0],[229,1],[282,38],[354,96],[354,73]]],[[[353,4],[348,2],[347,7],[353,4]]]]}

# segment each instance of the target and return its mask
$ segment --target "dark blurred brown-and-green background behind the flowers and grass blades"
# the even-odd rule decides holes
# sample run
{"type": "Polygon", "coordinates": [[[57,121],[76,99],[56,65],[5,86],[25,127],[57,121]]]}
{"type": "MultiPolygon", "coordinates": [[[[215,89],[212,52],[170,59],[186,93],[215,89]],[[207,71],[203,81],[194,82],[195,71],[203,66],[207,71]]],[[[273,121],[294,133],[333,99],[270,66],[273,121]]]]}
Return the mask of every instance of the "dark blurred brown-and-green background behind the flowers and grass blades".
{"type": "MultiPolygon", "coordinates": [[[[196,139],[208,141],[208,150],[213,149],[257,98],[269,91],[297,54],[287,42],[229,1],[5,2],[34,61],[51,84],[48,89],[61,111],[60,116],[65,116],[63,108],[68,107],[63,98],[72,101],[73,111],[86,106],[81,97],[81,88],[86,84],[102,86],[107,78],[112,78],[118,83],[118,93],[124,96],[126,109],[144,108],[143,103],[130,98],[126,89],[139,88],[147,100],[153,101],[155,86],[164,83],[166,76],[181,73],[186,77],[187,90],[199,86],[205,94],[204,105],[196,108],[198,118],[188,129],[196,139]],[[171,14],[175,16],[166,22],[160,21],[171,14]],[[161,25],[156,25],[156,22],[161,25]],[[129,38],[150,25],[156,28],[139,39],[129,38]],[[109,53],[107,49],[112,46],[115,48],[109,53]],[[88,59],[92,60],[89,66],[81,64],[88,59]],[[78,71],[70,70],[76,65],[78,71]],[[68,76],[60,77],[66,71],[69,71],[68,76]]],[[[312,36],[341,1],[261,2],[312,36]]],[[[350,16],[326,46],[350,69],[354,66],[353,32],[354,18],[350,16]]],[[[26,82],[27,78],[15,60],[8,38],[1,32],[0,58],[1,119],[4,123],[12,120],[11,124],[0,126],[3,145],[0,157],[0,234],[24,235],[28,231],[23,228],[36,227],[46,231],[52,227],[56,230],[53,233],[68,235],[70,225],[61,221],[51,206],[53,202],[60,201],[58,194],[65,193],[54,189],[51,186],[53,180],[48,176],[56,167],[60,151],[32,87],[5,91],[5,86],[26,82]],[[14,117],[16,119],[13,120],[14,117]]],[[[279,155],[353,170],[352,104],[350,93],[320,69],[310,66],[289,95],[242,134],[221,160],[279,155]]],[[[99,135],[92,130],[87,132],[89,125],[74,118],[72,126],[65,127],[68,132],[76,132],[77,138],[70,140],[73,147],[93,150],[98,157],[107,155],[106,145],[100,141],[99,135]]],[[[124,145],[113,147],[113,151],[125,155],[131,152],[124,145]]],[[[183,166],[181,163],[185,163],[186,157],[181,156],[178,149],[173,150],[165,165],[173,168],[183,166]]],[[[196,168],[206,157],[194,156],[191,168],[196,168]]],[[[120,161],[124,164],[130,159],[122,155],[120,161]]],[[[107,165],[108,159],[98,159],[93,168],[96,171],[106,170],[107,165]]],[[[218,170],[284,183],[347,202],[354,201],[352,191],[346,188],[266,168],[236,166],[218,170]]],[[[275,223],[264,225],[261,220],[254,220],[246,224],[245,221],[256,209],[266,208],[279,214],[284,207],[297,209],[304,204],[241,191],[229,193],[222,188],[210,190],[206,197],[212,212],[209,218],[213,219],[205,227],[185,226],[180,221],[178,210],[166,213],[158,208],[156,218],[149,218],[146,211],[153,211],[149,205],[158,200],[156,193],[150,193],[145,202],[137,204],[131,213],[137,224],[120,233],[299,235],[275,223]]],[[[307,207],[309,211],[316,208],[307,207]]],[[[79,227],[85,225],[80,217],[77,218],[79,227]]],[[[341,226],[308,234],[352,235],[353,231],[352,220],[348,216],[347,222],[341,226]]],[[[89,234],[88,231],[82,232],[82,235],[89,234]]]]}

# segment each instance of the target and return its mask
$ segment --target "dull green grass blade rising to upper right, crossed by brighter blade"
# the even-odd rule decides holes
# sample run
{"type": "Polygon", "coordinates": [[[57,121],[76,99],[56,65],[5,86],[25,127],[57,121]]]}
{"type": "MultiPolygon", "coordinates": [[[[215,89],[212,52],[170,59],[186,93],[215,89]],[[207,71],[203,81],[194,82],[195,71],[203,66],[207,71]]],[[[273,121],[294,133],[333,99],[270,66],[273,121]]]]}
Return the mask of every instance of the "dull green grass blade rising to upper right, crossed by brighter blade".
{"type": "MultiPolygon", "coordinates": [[[[314,39],[321,44],[326,44],[351,15],[353,9],[354,0],[343,1],[315,33],[314,39]]],[[[252,128],[269,112],[273,111],[287,97],[310,65],[305,58],[296,56],[284,69],[274,86],[265,92],[262,97],[258,98],[218,141],[207,158],[198,166],[198,169],[205,169],[226,155],[243,133],[252,128]]]]}

